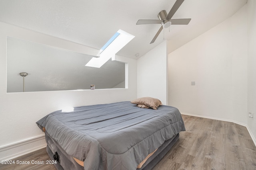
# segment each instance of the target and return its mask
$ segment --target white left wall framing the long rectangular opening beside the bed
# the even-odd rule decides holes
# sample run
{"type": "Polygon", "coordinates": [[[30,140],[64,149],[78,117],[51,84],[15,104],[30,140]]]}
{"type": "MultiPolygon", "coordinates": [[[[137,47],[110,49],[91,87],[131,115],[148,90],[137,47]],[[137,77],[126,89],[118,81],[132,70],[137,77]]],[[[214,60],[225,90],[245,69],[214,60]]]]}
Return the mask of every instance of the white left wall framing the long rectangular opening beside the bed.
{"type": "MultiPolygon", "coordinates": [[[[98,53],[98,50],[90,47],[0,22],[1,160],[2,158],[18,156],[19,153],[24,154],[28,148],[32,151],[32,145],[27,147],[27,141],[31,139],[35,143],[39,141],[39,145],[43,146],[44,140],[41,137],[44,133],[37,127],[36,121],[52,111],[62,109],[64,106],[104,104],[136,98],[136,60],[126,57],[118,57],[120,61],[128,62],[128,68],[126,68],[126,74],[128,74],[126,87],[128,88],[126,89],[6,93],[7,36],[88,53],[90,55],[98,53]]],[[[40,146],[35,144],[34,149],[38,149],[40,146]]]]}

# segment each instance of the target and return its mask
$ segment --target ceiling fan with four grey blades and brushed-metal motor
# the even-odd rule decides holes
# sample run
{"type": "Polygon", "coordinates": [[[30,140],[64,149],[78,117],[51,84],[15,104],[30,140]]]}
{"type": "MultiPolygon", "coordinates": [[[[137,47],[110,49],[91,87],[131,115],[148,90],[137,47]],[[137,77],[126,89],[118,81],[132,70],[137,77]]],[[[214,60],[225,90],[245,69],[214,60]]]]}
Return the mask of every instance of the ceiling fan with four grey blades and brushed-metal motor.
{"type": "Polygon", "coordinates": [[[156,40],[156,38],[158,37],[158,35],[160,34],[160,32],[162,31],[163,28],[168,28],[168,27],[170,27],[171,24],[172,25],[188,25],[188,23],[190,22],[191,18],[171,19],[172,16],[175,14],[175,12],[178,10],[178,8],[180,8],[180,6],[181,6],[183,1],[184,0],[176,0],[176,2],[174,3],[174,5],[173,5],[173,7],[170,10],[168,15],[167,15],[166,10],[162,10],[161,12],[159,12],[159,14],[158,14],[159,20],[138,20],[137,21],[136,25],[140,25],[140,24],[156,24],[156,23],[162,24],[162,26],[157,31],[156,35],[154,36],[154,38],[152,39],[150,44],[154,43],[154,41],[156,40]]]}

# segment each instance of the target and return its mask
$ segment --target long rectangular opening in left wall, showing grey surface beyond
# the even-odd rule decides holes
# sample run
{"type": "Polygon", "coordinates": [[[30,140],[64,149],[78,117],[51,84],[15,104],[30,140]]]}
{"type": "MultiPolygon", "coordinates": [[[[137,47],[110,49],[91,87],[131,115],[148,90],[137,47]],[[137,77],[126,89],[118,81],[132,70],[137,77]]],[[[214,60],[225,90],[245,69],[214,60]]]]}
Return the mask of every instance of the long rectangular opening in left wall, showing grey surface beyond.
{"type": "Polygon", "coordinates": [[[85,66],[90,59],[90,55],[7,37],[7,92],[85,90],[91,85],[125,88],[125,63],[110,59],[101,68],[85,66]],[[21,72],[28,75],[20,76],[21,72]]]}

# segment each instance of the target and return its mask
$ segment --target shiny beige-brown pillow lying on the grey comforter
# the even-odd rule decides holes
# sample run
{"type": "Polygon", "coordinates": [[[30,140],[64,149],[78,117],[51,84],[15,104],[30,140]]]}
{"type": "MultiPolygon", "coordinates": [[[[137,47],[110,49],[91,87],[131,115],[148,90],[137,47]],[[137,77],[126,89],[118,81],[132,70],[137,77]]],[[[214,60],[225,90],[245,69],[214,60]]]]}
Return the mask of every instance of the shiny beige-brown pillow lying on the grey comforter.
{"type": "Polygon", "coordinates": [[[162,105],[162,102],[156,98],[144,97],[131,101],[132,104],[144,104],[152,109],[156,110],[158,106],[162,105]]]}

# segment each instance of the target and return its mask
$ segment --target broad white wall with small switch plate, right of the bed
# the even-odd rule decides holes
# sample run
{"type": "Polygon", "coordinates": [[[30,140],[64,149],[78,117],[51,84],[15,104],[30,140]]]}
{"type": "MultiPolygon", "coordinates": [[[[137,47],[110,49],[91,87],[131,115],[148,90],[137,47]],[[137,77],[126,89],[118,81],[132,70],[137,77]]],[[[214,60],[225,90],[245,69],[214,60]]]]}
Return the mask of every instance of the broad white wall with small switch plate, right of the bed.
{"type": "Polygon", "coordinates": [[[168,55],[170,106],[247,124],[246,18],[244,6],[168,55]]]}

